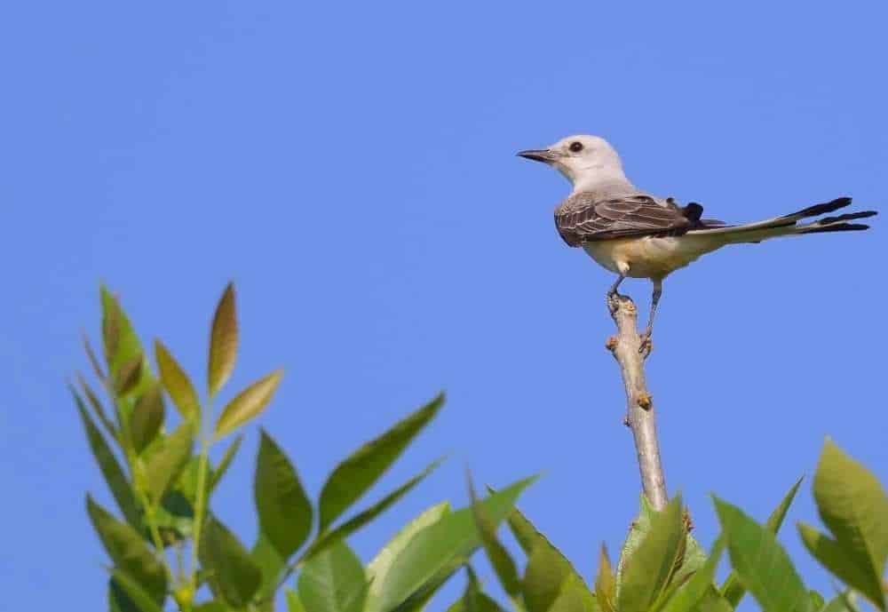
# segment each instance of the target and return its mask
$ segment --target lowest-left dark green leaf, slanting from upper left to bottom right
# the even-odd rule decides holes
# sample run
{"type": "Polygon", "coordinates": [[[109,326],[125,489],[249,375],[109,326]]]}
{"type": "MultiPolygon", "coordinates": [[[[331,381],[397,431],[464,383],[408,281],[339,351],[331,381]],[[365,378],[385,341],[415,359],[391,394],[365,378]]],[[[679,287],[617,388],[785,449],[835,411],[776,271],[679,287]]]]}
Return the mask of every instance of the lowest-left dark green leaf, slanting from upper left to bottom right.
{"type": "Polygon", "coordinates": [[[139,600],[127,587],[124,577],[139,584],[151,600],[158,606],[163,606],[167,589],[166,573],[155,555],[148,550],[139,532],[126,523],[117,521],[111,513],[92,501],[89,495],[86,496],[86,512],[90,515],[92,527],[99,534],[108,556],[114,561],[115,568],[123,575],[119,576],[115,571],[115,578],[127,594],[139,604],[139,600]]]}

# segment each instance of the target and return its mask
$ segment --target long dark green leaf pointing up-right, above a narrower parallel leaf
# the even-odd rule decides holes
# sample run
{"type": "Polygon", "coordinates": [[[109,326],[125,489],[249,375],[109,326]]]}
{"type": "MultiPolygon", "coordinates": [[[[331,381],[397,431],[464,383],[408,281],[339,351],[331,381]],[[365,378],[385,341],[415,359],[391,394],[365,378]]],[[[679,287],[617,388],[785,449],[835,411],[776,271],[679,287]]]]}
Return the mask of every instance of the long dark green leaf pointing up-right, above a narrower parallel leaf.
{"type": "Polygon", "coordinates": [[[379,480],[416,434],[438,414],[443,394],[346,458],[321,489],[321,533],[379,480]]]}

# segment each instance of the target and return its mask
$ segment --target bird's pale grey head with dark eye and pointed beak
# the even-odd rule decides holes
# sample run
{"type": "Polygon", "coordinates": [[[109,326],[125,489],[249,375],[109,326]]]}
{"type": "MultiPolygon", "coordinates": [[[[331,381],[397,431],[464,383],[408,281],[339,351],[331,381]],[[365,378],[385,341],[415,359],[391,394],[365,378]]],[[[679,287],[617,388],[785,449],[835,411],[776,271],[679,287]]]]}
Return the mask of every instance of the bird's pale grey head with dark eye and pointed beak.
{"type": "Polygon", "coordinates": [[[575,189],[626,179],[620,155],[607,140],[598,136],[568,136],[551,147],[527,149],[519,151],[518,155],[548,163],[567,177],[575,189]]]}

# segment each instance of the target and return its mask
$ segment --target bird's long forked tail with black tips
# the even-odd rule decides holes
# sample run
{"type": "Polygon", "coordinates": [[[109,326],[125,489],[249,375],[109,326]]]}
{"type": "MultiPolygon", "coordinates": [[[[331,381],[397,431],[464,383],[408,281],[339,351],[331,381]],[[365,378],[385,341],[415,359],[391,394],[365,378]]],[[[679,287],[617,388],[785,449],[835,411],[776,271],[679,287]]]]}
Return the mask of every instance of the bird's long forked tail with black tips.
{"type": "Polygon", "coordinates": [[[819,217],[829,212],[838,211],[851,204],[850,197],[840,197],[832,202],[815,204],[801,211],[793,212],[782,217],[765,219],[756,223],[747,223],[741,226],[726,226],[712,223],[706,227],[694,229],[688,234],[710,236],[720,239],[724,243],[729,242],[761,242],[768,238],[779,236],[792,236],[801,234],[821,234],[825,232],[851,232],[868,229],[868,225],[862,223],[849,223],[855,219],[866,219],[878,214],[876,211],[849,212],[835,217],[821,217],[816,221],[799,223],[802,219],[819,217]]]}

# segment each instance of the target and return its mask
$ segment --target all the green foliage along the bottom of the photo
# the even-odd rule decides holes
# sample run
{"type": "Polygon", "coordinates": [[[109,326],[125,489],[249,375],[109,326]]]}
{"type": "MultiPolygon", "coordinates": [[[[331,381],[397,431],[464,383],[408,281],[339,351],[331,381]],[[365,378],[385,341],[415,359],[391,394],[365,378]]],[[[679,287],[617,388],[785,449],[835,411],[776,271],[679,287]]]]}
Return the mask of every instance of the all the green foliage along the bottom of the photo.
{"type": "Polygon", "coordinates": [[[116,298],[102,290],[101,299],[104,365],[88,342],[85,347],[110,409],[83,377],[72,393],[121,514],[115,517],[87,496],[91,523],[111,561],[113,611],[160,612],[171,599],[187,612],[268,612],[285,587],[289,612],[421,612],[442,584],[464,570],[464,592],[449,612],[730,612],[747,592],[765,612],[855,612],[860,599],[888,612],[888,496],[872,473],[829,440],[813,478],[825,531],[798,523],[807,550],[835,576],[836,589],[844,589],[829,597],[805,585],[777,539],[801,481],[763,524],[713,497],[721,532],[708,553],[690,533],[680,496],[661,511],[642,496],[615,564],[602,546],[598,571],[587,582],[515,507],[533,479],[489,489],[481,498],[470,477],[470,505],[456,511],[447,502],[433,505],[364,566],[348,536],[394,505],[440,460],[344,516],[437,415],[442,396],[346,457],[314,502],[284,449],[262,431],[253,482],[259,535],[248,548],[210,502],[240,449],[243,426],[272,401],[281,370],[234,394],[213,421],[212,403],[232,375],[239,344],[234,288],[226,288],[213,317],[203,402],[159,341],[155,376],[116,298]],[[175,424],[165,409],[167,398],[176,407],[175,424]],[[238,435],[213,465],[210,449],[232,433],[238,435]],[[503,544],[498,533],[503,522],[524,560],[503,544]],[[485,592],[472,567],[478,550],[509,607],[485,592]],[[718,564],[725,557],[731,571],[718,585],[718,564]],[[203,596],[203,585],[211,599],[203,596]]]}

